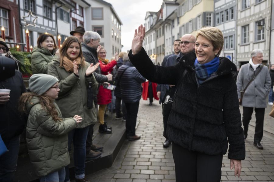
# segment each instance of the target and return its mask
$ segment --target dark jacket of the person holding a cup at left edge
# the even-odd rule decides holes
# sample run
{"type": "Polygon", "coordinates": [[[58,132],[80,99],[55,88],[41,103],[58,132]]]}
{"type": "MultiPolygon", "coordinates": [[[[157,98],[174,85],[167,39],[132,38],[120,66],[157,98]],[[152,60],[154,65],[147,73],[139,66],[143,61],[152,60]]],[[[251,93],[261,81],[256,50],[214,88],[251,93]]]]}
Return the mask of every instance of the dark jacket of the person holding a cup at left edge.
{"type": "Polygon", "coordinates": [[[26,125],[26,117],[18,111],[19,97],[26,92],[21,72],[15,72],[15,76],[0,81],[0,89],[10,89],[10,99],[5,104],[0,104],[0,134],[2,139],[8,140],[20,135],[26,125]]]}

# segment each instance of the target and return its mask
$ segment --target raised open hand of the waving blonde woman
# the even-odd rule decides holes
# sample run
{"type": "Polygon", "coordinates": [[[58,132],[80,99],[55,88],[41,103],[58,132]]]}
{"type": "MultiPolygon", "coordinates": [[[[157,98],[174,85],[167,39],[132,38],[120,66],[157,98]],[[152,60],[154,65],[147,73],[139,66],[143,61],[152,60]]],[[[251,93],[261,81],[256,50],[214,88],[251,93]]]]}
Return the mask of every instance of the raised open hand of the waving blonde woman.
{"type": "Polygon", "coordinates": [[[145,33],[146,28],[143,27],[143,25],[138,27],[138,32],[137,29],[135,29],[134,38],[131,45],[132,54],[137,54],[142,49],[145,33]]]}

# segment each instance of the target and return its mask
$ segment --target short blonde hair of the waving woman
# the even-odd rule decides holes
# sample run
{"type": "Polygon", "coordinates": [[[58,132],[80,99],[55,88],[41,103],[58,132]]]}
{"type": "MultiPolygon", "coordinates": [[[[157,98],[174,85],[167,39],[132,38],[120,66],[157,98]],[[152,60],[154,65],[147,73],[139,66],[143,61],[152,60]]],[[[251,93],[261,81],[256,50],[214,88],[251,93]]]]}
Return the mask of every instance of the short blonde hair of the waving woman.
{"type": "Polygon", "coordinates": [[[196,39],[199,35],[202,35],[212,43],[214,48],[213,51],[220,48],[220,51],[217,53],[217,55],[219,56],[223,49],[223,32],[216,27],[205,27],[198,30],[196,34],[196,39]]]}

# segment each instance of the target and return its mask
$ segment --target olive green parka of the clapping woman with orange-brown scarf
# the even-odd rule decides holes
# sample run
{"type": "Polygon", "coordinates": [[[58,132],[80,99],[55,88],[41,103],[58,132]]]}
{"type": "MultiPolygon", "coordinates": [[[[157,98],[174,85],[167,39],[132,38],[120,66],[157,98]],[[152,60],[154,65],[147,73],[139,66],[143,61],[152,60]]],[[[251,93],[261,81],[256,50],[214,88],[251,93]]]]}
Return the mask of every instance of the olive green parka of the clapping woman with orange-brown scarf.
{"type": "Polygon", "coordinates": [[[93,90],[98,88],[98,82],[93,74],[86,77],[86,69],[90,64],[78,69],[79,78],[73,72],[67,72],[64,67],[59,67],[59,59],[54,59],[48,65],[48,74],[56,76],[59,80],[59,94],[55,102],[58,104],[64,117],[79,115],[83,118],[82,122],[76,124],[76,128],[85,128],[97,122],[96,108],[87,108],[87,85],[92,83],[93,90]]]}

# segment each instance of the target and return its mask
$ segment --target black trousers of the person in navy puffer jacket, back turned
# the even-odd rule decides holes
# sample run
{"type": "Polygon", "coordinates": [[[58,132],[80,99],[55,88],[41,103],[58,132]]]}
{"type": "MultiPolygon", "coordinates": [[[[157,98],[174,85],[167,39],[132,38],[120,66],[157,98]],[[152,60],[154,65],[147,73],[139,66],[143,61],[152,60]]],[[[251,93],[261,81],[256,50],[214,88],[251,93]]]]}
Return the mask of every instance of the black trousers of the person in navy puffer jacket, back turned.
{"type": "Polygon", "coordinates": [[[139,110],[139,101],[135,103],[125,103],[126,115],[126,134],[127,136],[135,136],[135,127],[137,121],[137,114],[139,110]]]}

